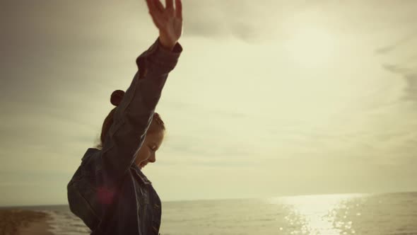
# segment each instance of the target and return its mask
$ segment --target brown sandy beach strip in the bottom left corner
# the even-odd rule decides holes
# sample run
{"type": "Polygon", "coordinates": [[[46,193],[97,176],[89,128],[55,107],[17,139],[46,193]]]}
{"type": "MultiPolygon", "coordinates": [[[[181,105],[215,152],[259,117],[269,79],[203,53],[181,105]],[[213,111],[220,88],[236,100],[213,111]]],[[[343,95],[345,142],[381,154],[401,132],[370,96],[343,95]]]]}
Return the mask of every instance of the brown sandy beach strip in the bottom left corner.
{"type": "Polygon", "coordinates": [[[0,234],[53,235],[47,231],[48,214],[30,210],[0,210],[0,234]]]}

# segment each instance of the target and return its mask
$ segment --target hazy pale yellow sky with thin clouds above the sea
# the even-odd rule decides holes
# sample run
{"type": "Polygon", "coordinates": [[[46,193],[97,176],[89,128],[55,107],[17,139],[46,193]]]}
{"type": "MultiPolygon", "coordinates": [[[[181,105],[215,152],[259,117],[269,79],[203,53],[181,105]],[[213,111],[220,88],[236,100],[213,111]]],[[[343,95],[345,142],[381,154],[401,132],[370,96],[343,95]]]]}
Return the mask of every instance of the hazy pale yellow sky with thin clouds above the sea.
{"type": "MultiPolygon", "coordinates": [[[[417,190],[417,1],[182,2],[161,200],[417,190]]],[[[0,206],[66,204],[158,30],[144,0],[1,8],[0,206]]]]}

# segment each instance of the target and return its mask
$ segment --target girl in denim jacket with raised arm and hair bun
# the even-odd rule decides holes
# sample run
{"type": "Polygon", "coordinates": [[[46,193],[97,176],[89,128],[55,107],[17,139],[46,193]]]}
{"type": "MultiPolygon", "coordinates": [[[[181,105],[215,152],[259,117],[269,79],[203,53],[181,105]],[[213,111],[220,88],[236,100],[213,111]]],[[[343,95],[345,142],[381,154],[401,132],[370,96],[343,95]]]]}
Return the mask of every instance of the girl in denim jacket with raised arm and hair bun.
{"type": "Polygon", "coordinates": [[[158,234],[161,202],[141,169],[155,162],[165,126],[155,113],[168,74],[182,52],[181,0],[146,0],[159,37],[137,59],[139,71],[102,125],[100,144],[89,148],[67,185],[71,212],[91,234],[158,234]]]}

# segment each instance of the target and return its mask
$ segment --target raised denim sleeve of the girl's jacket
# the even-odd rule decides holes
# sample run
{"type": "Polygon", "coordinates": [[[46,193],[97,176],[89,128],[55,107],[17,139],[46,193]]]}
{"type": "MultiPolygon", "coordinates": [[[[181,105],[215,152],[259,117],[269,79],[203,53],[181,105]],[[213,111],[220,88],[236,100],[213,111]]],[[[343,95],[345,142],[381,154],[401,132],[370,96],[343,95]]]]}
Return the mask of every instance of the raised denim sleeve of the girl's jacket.
{"type": "Polygon", "coordinates": [[[113,123],[102,143],[99,171],[107,187],[113,188],[134,164],[160,99],[168,74],[182,52],[177,43],[172,51],[155,40],[137,59],[139,69],[117,106],[113,123]]]}

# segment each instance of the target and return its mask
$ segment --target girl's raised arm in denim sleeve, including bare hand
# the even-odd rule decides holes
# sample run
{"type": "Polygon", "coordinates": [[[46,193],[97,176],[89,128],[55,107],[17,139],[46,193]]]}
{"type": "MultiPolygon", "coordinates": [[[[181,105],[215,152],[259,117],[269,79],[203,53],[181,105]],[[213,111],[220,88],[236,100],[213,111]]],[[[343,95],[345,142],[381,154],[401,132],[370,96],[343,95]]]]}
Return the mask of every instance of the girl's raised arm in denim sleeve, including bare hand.
{"type": "Polygon", "coordinates": [[[176,9],[172,0],[166,0],[165,8],[159,0],[146,0],[146,3],[159,29],[159,37],[136,59],[139,71],[117,106],[103,143],[96,171],[101,171],[103,183],[109,188],[117,185],[134,164],[165,81],[182,52],[177,42],[182,34],[181,1],[175,0],[176,9]]]}

